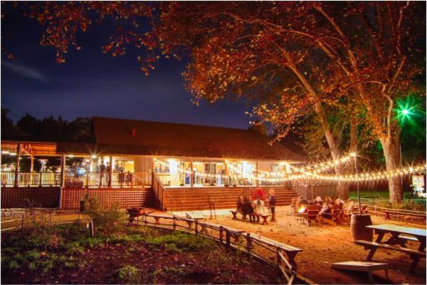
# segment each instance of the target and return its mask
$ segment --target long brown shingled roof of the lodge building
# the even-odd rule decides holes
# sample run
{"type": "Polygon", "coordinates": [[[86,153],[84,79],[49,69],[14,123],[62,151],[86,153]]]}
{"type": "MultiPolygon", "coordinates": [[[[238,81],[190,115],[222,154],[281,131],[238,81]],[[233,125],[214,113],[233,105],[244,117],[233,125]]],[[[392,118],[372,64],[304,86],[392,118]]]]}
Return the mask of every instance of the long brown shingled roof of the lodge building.
{"type": "Polygon", "coordinates": [[[60,152],[94,152],[111,155],[238,158],[302,161],[271,138],[253,130],[204,125],[159,123],[93,117],[95,145],[60,144],[60,152]]]}

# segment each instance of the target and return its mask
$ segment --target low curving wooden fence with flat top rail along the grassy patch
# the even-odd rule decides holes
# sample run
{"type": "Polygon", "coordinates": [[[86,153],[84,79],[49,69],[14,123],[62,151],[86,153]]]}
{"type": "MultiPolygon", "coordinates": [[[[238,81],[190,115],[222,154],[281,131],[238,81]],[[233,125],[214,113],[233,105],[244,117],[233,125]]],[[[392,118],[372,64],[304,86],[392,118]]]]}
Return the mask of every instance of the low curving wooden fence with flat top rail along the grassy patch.
{"type": "MultiPolygon", "coordinates": [[[[301,252],[302,249],[297,247],[261,237],[258,234],[251,234],[220,224],[200,222],[197,219],[185,217],[144,214],[142,219],[135,219],[134,221],[146,226],[201,235],[214,239],[227,248],[235,248],[247,252],[253,257],[278,268],[278,271],[283,274],[288,284],[292,284],[296,278],[302,279],[302,276],[297,276],[297,264],[295,262],[296,254],[301,252]]],[[[305,279],[305,282],[307,282],[307,279],[305,279]]]]}

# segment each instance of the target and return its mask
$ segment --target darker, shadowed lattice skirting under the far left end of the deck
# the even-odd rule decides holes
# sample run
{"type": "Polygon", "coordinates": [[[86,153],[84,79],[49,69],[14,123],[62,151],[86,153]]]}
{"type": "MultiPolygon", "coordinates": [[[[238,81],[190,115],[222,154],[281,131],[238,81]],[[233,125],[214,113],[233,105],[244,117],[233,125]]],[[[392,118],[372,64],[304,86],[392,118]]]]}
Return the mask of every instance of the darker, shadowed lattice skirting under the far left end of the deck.
{"type": "Polygon", "coordinates": [[[56,208],[59,202],[59,187],[1,187],[1,207],[56,208]]]}

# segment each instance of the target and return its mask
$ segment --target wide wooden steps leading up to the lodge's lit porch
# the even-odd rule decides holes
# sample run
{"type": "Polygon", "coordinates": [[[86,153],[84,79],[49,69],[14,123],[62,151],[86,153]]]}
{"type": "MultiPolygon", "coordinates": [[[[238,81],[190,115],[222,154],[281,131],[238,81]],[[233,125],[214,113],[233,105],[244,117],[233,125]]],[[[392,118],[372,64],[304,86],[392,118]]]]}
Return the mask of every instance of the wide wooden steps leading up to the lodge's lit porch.
{"type": "MultiPolygon", "coordinates": [[[[297,194],[287,187],[265,187],[275,189],[278,206],[290,204],[297,194]]],[[[251,195],[255,187],[206,187],[168,188],[164,195],[164,207],[168,211],[193,211],[204,209],[233,209],[239,195],[251,195]]]]}

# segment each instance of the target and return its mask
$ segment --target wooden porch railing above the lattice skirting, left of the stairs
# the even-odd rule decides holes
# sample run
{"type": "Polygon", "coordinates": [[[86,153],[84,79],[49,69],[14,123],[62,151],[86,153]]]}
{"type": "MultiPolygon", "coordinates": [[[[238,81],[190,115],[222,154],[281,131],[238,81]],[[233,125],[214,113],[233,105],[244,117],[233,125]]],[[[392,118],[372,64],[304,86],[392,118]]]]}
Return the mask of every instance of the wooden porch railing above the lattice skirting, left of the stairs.
{"type": "MultiPolygon", "coordinates": [[[[60,172],[19,172],[18,186],[60,186],[60,172]]],[[[15,172],[2,171],[1,186],[15,185],[15,172]]],[[[151,172],[65,172],[66,187],[151,186],[151,172]]]]}

